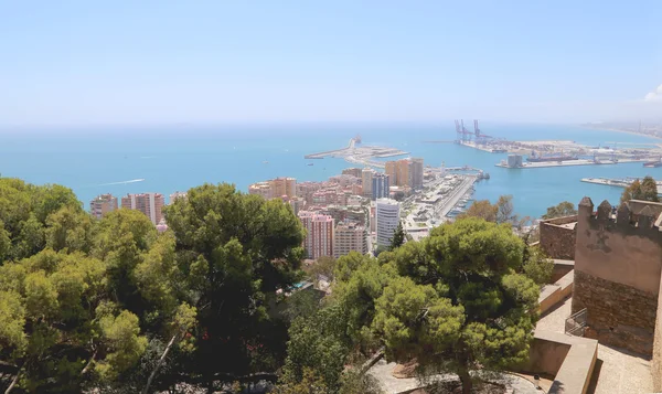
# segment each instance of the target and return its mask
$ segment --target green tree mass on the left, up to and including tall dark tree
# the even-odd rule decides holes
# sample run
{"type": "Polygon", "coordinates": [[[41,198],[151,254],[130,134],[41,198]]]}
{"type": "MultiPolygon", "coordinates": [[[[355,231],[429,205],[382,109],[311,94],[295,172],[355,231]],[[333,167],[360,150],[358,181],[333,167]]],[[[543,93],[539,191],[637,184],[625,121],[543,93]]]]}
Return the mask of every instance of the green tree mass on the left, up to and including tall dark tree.
{"type": "Polygon", "coordinates": [[[66,188],[0,179],[10,391],[153,392],[282,363],[287,327],[267,307],[300,276],[291,210],[222,184],[166,215],[173,231],[158,234],[140,212],[94,220],[66,188]]]}

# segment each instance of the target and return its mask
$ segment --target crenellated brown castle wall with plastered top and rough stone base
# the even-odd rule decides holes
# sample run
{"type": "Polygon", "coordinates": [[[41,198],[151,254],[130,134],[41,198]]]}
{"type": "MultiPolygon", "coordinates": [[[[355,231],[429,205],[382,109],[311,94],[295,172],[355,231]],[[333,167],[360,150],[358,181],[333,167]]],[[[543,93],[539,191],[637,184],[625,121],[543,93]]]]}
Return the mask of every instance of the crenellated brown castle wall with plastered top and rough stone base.
{"type": "MultiPolygon", "coordinates": [[[[587,201],[586,201],[587,200],[587,201]]],[[[612,214],[604,202],[579,205],[573,312],[587,308],[587,336],[599,342],[651,355],[662,274],[662,234],[641,212],[612,214]]]]}

